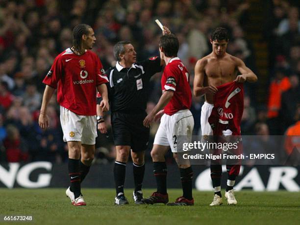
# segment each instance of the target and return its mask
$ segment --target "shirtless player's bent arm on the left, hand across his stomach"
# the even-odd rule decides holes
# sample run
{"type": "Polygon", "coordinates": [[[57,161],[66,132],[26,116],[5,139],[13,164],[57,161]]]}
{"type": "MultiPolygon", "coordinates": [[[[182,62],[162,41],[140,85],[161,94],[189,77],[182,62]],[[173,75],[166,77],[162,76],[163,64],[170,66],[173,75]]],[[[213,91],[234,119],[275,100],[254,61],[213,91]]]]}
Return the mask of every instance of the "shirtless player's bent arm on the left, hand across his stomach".
{"type": "Polygon", "coordinates": [[[202,96],[205,94],[215,94],[218,91],[218,89],[213,85],[203,87],[204,76],[205,76],[205,70],[204,70],[205,65],[206,65],[206,60],[202,58],[198,60],[195,66],[194,89],[193,89],[195,96],[202,96]]]}

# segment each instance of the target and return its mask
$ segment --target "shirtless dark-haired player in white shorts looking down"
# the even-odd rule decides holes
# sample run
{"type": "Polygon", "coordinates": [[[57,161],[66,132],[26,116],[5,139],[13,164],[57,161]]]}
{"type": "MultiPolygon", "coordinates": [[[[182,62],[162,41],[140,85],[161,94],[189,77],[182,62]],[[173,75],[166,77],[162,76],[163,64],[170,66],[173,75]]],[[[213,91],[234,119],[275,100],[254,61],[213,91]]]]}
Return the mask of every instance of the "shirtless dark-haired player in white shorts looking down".
{"type": "MultiPolygon", "coordinates": [[[[223,27],[216,28],[210,38],[212,52],[198,60],[195,66],[194,95],[205,95],[205,102],[201,109],[202,135],[213,135],[212,128],[208,123],[208,118],[214,107],[214,95],[218,92],[218,86],[232,81],[239,83],[257,81],[257,76],[246,67],[241,59],[226,53],[228,41],[227,30],[223,27]],[[238,72],[241,75],[237,75],[238,72]]],[[[237,167],[236,171],[239,171],[240,165],[233,165],[232,167],[237,167]]],[[[210,169],[211,179],[215,189],[214,199],[210,205],[221,205],[223,203],[221,195],[222,166],[211,165],[210,169]]],[[[233,175],[228,172],[225,192],[225,198],[228,204],[237,203],[233,193],[235,178],[236,174],[233,175]]]]}

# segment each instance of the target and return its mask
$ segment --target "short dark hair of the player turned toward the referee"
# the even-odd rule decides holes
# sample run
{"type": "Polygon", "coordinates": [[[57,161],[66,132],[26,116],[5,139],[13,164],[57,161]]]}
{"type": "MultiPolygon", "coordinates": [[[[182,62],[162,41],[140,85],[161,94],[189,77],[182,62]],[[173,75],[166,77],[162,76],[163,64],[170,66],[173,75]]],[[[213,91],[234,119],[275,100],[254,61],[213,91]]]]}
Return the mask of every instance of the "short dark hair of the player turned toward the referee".
{"type": "Polygon", "coordinates": [[[159,47],[163,48],[165,56],[174,57],[177,56],[179,42],[174,34],[167,34],[160,37],[159,47]]]}

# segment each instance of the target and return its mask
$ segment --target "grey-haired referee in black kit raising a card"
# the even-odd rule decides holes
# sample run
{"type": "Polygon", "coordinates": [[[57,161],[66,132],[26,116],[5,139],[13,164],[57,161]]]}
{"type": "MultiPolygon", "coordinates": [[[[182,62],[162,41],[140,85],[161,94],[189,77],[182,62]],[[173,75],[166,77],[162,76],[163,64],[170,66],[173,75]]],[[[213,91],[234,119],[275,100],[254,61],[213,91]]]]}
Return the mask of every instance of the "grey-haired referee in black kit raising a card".
{"type": "MultiPolygon", "coordinates": [[[[171,33],[167,27],[163,34],[171,33]]],[[[125,168],[131,149],[135,189],[133,199],[143,204],[142,182],[145,173],[145,150],[148,147],[149,128],[143,125],[147,116],[149,83],[152,75],[161,72],[163,61],[159,57],[136,62],[136,52],[129,41],[118,42],[114,46],[114,56],[118,61],[115,67],[106,71],[111,108],[111,125],[117,156],[114,165],[116,184],[115,204],[128,204],[124,195],[125,168]]],[[[97,105],[97,107],[100,107],[97,105]]],[[[102,123],[101,110],[98,129],[106,131],[102,123]]]]}

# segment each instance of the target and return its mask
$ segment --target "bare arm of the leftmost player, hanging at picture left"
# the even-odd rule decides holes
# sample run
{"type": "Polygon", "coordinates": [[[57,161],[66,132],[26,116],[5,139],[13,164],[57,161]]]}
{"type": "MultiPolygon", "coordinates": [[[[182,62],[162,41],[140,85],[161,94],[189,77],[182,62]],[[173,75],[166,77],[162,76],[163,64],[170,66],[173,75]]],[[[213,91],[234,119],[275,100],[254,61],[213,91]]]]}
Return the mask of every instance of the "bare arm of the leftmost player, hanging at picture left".
{"type": "Polygon", "coordinates": [[[49,85],[46,85],[44,95],[43,95],[43,101],[41,106],[41,112],[39,116],[39,125],[42,129],[46,129],[49,127],[49,118],[47,116],[47,106],[49,104],[49,101],[54,93],[55,89],[50,87],[49,85]]]}

